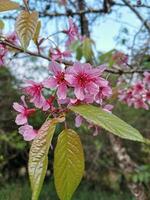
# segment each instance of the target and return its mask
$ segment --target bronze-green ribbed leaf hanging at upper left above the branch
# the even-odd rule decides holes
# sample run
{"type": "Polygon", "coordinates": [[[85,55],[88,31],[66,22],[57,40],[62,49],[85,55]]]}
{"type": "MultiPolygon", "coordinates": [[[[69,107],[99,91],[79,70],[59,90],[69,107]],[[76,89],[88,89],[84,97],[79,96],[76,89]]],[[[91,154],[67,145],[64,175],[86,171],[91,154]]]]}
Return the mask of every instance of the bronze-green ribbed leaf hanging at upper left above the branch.
{"type": "Polygon", "coordinates": [[[16,32],[24,50],[29,46],[38,24],[38,12],[22,11],[16,21],[16,32]]]}

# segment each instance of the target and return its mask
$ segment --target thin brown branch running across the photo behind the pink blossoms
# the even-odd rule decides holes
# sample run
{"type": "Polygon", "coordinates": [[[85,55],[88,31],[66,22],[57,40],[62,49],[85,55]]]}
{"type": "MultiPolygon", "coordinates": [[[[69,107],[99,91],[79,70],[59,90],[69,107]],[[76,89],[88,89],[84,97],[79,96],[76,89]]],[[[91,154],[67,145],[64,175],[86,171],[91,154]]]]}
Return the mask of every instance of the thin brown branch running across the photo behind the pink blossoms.
{"type": "MultiPolygon", "coordinates": [[[[47,57],[41,53],[38,52],[32,52],[32,51],[24,51],[20,46],[16,46],[15,44],[10,43],[7,40],[2,40],[0,39],[0,44],[2,45],[6,45],[9,46],[17,51],[19,51],[19,53],[24,53],[30,56],[34,56],[34,57],[38,57],[38,58],[43,58],[47,61],[51,61],[50,57],[47,57]]],[[[67,60],[62,60],[61,62],[59,60],[56,60],[58,63],[63,63],[66,66],[72,66],[73,62],[72,61],[67,61],[67,60]]],[[[111,73],[111,74],[133,74],[133,73],[139,73],[139,74],[143,74],[144,72],[150,72],[150,69],[130,69],[130,70],[122,70],[122,69],[106,69],[105,72],[111,73]]]]}

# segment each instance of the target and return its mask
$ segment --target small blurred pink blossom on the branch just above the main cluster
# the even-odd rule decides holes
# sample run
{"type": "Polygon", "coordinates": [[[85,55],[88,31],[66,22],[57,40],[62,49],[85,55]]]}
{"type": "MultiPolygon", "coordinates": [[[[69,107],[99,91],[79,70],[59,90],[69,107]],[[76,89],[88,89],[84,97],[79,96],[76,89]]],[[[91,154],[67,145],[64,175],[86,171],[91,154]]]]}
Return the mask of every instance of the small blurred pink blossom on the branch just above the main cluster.
{"type": "Polygon", "coordinates": [[[52,61],[59,60],[61,61],[63,58],[70,57],[71,51],[60,51],[58,48],[50,49],[50,57],[52,61]]]}

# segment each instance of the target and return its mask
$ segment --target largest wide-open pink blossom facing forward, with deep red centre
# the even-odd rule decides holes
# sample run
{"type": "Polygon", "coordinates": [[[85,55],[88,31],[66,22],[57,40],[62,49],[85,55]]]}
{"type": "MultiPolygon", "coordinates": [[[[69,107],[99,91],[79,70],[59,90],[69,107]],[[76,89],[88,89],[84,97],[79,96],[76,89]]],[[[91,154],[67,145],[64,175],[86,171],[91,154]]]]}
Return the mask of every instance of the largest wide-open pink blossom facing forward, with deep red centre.
{"type": "Polygon", "coordinates": [[[99,85],[105,82],[100,77],[103,70],[92,68],[90,64],[76,62],[72,67],[67,69],[65,79],[71,87],[74,87],[77,99],[83,101],[86,94],[95,96],[99,92],[99,85]]]}

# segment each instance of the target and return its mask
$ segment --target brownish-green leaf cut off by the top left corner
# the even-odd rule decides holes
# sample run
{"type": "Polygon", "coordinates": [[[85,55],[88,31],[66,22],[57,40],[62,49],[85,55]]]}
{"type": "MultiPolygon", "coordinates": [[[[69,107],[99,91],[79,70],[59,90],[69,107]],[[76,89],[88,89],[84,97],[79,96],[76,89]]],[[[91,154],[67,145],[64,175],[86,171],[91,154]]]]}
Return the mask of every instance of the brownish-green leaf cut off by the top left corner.
{"type": "Polygon", "coordinates": [[[8,10],[16,10],[19,7],[20,5],[14,1],[0,0],[0,12],[4,12],[8,10]]]}

